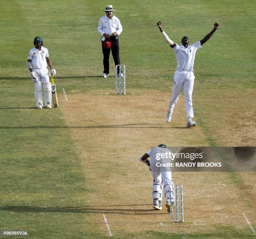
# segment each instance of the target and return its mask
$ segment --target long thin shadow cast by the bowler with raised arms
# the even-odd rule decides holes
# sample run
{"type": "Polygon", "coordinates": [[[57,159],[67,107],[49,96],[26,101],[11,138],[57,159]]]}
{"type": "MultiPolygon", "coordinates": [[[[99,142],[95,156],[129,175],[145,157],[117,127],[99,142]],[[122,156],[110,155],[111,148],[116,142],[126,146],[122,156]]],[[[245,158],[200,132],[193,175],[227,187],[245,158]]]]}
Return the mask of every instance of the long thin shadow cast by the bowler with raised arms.
{"type": "Polygon", "coordinates": [[[18,127],[0,127],[0,129],[104,129],[104,128],[152,128],[152,129],[187,129],[187,127],[163,127],[160,124],[126,124],[126,125],[94,125],[94,126],[47,126],[47,125],[36,125],[36,126],[18,126],[18,127]],[[157,126],[159,125],[159,126],[157,126]]]}

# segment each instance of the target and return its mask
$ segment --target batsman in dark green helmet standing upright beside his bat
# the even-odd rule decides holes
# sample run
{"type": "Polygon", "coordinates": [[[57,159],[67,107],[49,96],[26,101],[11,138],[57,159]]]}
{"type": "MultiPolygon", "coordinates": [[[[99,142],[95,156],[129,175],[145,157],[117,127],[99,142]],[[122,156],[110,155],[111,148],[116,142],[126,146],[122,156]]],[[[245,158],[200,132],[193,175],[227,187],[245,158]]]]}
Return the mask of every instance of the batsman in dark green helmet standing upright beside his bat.
{"type": "Polygon", "coordinates": [[[37,36],[34,39],[34,48],[29,51],[27,66],[30,77],[35,83],[36,108],[43,107],[43,92],[47,109],[51,108],[51,83],[49,81],[47,65],[50,67],[50,76],[55,77],[56,71],[51,66],[48,49],[43,46],[43,39],[37,36]],[[31,65],[32,62],[32,65],[31,65]]]}

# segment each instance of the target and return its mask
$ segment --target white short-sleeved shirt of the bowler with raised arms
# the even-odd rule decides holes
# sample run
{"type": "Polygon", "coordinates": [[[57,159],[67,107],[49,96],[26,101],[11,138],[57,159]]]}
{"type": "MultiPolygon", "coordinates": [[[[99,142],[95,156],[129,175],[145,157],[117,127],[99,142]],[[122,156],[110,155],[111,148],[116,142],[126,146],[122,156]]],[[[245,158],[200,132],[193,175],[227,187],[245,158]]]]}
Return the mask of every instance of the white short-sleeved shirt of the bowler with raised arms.
{"type": "Polygon", "coordinates": [[[194,71],[195,53],[199,48],[202,48],[200,41],[187,48],[176,43],[176,46],[172,48],[177,60],[176,71],[194,71]]]}

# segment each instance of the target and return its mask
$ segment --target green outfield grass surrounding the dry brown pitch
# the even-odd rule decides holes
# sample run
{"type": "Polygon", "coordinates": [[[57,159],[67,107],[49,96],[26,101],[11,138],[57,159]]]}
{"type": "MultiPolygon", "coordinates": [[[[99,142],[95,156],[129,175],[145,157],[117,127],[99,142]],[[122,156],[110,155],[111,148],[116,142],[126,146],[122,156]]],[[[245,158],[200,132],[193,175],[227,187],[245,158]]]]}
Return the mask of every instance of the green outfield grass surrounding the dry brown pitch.
{"type": "MultiPolygon", "coordinates": [[[[225,107],[233,112],[255,107],[253,1],[2,0],[0,229],[28,230],[30,238],[107,237],[97,231],[97,222],[87,212],[90,202],[84,198],[97,188],[87,184],[61,108],[34,109],[33,83],[26,68],[33,39],[39,35],[57,71],[55,84],[62,105],[62,88],[67,95],[97,89],[113,94],[114,78],[100,78],[97,24],[106,4],[114,6],[123,25],[120,59],[126,65],[128,94],[141,94],[140,89],[171,92],[176,60],[156,26],[159,20],[177,43],[185,35],[191,43],[201,40],[216,21],[220,28],[198,51],[194,67],[194,109],[209,145],[223,144],[209,117],[218,121],[225,107]],[[212,101],[209,107],[206,100],[212,101]]],[[[112,56],[110,66],[114,76],[112,56]]],[[[171,233],[119,232],[114,238],[253,238],[249,228],[229,226],[197,234],[171,233]]]]}

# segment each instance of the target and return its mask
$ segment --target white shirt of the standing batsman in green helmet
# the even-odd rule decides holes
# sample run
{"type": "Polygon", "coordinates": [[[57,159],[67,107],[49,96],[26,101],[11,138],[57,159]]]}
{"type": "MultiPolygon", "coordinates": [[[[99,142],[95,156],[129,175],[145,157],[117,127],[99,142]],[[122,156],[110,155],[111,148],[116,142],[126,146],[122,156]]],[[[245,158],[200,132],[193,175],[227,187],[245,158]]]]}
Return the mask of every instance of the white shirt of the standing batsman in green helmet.
{"type": "Polygon", "coordinates": [[[33,69],[46,68],[46,57],[49,57],[49,53],[44,46],[41,47],[40,51],[34,47],[28,54],[28,59],[32,60],[33,69]]]}

